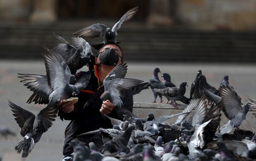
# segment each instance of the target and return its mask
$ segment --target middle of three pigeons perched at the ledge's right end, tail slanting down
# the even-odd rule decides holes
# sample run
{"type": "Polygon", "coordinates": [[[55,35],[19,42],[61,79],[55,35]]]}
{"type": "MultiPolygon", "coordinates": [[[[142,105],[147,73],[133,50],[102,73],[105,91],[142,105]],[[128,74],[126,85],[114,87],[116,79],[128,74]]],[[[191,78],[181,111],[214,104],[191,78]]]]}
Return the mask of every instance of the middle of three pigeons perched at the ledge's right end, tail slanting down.
{"type": "Polygon", "coordinates": [[[221,97],[218,96],[219,90],[209,85],[204,75],[200,75],[198,79],[200,79],[200,82],[199,82],[200,95],[201,96],[205,95],[209,101],[213,101],[215,104],[220,103],[221,97]]]}

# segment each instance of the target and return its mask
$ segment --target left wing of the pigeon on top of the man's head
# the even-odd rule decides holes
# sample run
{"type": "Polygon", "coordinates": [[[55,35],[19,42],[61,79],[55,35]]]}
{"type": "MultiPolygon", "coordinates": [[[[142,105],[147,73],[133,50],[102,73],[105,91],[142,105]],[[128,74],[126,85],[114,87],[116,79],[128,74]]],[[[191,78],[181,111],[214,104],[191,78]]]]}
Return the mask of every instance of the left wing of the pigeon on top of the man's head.
{"type": "Polygon", "coordinates": [[[89,27],[81,28],[73,33],[75,37],[94,38],[103,36],[107,31],[107,26],[104,24],[93,24],[89,27]]]}

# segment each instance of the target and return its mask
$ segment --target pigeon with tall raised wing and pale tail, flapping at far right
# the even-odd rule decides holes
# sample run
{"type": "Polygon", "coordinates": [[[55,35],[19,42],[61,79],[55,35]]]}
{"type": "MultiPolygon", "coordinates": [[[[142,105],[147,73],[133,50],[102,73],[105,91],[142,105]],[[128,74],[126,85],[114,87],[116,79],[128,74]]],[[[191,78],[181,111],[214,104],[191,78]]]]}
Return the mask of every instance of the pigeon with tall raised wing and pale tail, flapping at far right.
{"type": "Polygon", "coordinates": [[[241,107],[241,100],[238,99],[236,93],[227,85],[221,85],[220,96],[223,112],[227,119],[229,119],[227,124],[221,128],[220,133],[230,133],[233,127],[241,125],[250,109],[250,105],[247,102],[244,107],[241,107]]]}

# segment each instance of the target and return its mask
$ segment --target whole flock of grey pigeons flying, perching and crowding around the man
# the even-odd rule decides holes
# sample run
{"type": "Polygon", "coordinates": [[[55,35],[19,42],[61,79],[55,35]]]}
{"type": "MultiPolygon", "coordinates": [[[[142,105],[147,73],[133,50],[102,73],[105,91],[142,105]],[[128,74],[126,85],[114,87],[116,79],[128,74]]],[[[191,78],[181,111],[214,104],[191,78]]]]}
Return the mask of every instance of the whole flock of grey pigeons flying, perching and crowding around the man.
{"type": "MultiPolygon", "coordinates": [[[[76,96],[87,86],[93,70],[94,56],[91,46],[83,38],[104,37],[104,42],[116,42],[116,31],[123,22],[130,20],[138,11],[137,7],[126,12],[113,28],[103,24],[94,24],[74,33],[73,44],[54,34],[62,43],[54,48],[44,46],[43,54],[46,75],[19,73],[20,82],[33,93],[27,103],[47,104],[38,112],[25,110],[9,101],[15,120],[20,126],[23,136],[15,150],[27,157],[42,134],[52,126],[57,117],[59,101],[77,101],[76,96]],[[87,65],[89,71],[77,70],[87,65]],[[70,99],[71,98],[71,99],[70,99]]],[[[113,129],[94,130],[77,136],[71,141],[73,161],[218,161],[218,160],[252,160],[256,159],[256,135],[237,127],[245,119],[249,109],[256,111],[256,100],[249,101],[242,107],[241,98],[224,76],[218,89],[207,83],[202,71],[198,70],[195,81],[191,85],[190,98],[184,96],[186,82],[176,87],[170,75],[163,73],[164,82],[158,78],[159,68],[155,68],[148,82],[138,79],[124,78],[127,72],[126,63],[117,65],[105,78],[103,85],[104,101],[109,99],[115,106],[119,119],[109,119],[113,129]],[[174,106],[181,101],[188,106],[183,113],[154,118],[152,113],[147,119],[138,118],[128,110],[122,109],[122,100],[127,89],[133,93],[151,88],[154,102],[157,96],[171,100],[174,106]],[[191,101],[191,100],[194,101],[191,101]],[[221,110],[229,119],[224,127],[219,127],[221,110]],[[192,116],[185,120],[192,113],[192,116]],[[178,116],[173,123],[166,120],[178,116]],[[230,134],[236,127],[233,134],[230,134]],[[86,143],[81,142],[85,135],[93,135],[86,143]]],[[[62,117],[60,116],[62,119],[62,117]]]]}

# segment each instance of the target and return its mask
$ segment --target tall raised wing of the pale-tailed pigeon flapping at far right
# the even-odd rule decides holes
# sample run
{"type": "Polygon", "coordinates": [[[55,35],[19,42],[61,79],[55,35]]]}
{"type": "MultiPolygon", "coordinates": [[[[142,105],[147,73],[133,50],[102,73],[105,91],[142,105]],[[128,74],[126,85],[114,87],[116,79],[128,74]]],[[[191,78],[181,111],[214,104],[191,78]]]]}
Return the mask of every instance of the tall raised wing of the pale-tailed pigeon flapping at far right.
{"type": "Polygon", "coordinates": [[[228,119],[233,119],[237,113],[243,113],[241,100],[239,100],[233,90],[228,86],[221,86],[220,89],[221,104],[223,112],[228,119]]]}

